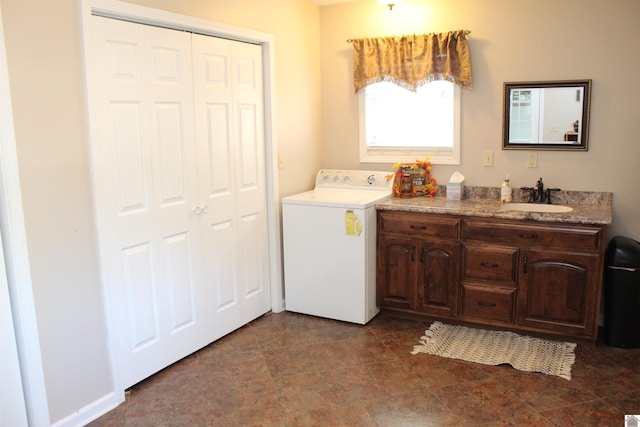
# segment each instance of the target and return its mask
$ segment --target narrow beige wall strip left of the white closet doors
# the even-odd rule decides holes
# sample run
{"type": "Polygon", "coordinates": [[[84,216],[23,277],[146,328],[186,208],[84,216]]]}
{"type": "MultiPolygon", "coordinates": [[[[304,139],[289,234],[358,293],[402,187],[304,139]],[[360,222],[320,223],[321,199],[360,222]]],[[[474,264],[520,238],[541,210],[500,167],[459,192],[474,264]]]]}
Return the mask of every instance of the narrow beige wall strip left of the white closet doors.
{"type": "Polygon", "coordinates": [[[113,388],[85,137],[80,15],[70,0],[0,4],[44,379],[55,421],[113,388]]]}

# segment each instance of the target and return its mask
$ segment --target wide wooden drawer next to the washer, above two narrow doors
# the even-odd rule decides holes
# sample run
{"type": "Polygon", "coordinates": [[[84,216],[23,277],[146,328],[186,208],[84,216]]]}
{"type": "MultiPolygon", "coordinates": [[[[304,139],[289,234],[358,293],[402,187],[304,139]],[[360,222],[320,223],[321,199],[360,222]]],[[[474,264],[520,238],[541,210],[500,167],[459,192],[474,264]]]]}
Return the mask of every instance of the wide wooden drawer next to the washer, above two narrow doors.
{"type": "Polygon", "coordinates": [[[460,235],[460,220],[420,213],[380,212],[378,230],[381,233],[410,234],[416,237],[457,239],[460,235]]]}

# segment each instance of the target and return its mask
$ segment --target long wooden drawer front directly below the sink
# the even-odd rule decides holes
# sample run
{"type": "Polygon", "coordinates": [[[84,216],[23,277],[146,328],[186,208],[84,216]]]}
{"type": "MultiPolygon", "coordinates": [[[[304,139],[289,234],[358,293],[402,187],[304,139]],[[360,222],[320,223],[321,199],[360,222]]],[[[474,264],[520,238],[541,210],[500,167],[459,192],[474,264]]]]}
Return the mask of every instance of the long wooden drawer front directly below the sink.
{"type": "Polygon", "coordinates": [[[465,221],[465,240],[485,241],[514,246],[542,246],[554,249],[598,251],[600,227],[562,225],[523,225],[522,223],[465,221]]]}

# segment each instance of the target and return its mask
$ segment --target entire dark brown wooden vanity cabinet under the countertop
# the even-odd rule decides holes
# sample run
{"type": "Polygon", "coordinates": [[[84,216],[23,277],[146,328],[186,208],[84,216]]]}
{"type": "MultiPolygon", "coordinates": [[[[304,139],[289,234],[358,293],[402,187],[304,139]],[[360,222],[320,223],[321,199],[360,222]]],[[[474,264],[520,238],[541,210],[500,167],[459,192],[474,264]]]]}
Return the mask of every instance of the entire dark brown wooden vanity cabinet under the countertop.
{"type": "Polygon", "coordinates": [[[604,226],[378,212],[387,311],[595,341],[604,226]]]}

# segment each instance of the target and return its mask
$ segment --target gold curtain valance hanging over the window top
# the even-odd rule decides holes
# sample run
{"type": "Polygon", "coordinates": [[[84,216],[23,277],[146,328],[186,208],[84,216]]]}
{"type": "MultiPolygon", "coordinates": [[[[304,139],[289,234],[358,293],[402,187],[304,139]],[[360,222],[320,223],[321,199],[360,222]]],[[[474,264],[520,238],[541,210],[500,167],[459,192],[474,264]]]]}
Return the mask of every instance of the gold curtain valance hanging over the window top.
{"type": "Polygon", "coordinates": [[[389,81],[415,91],[433,80],[471,88],[468,31],[350,40],[355,91],[389,81]]]}

